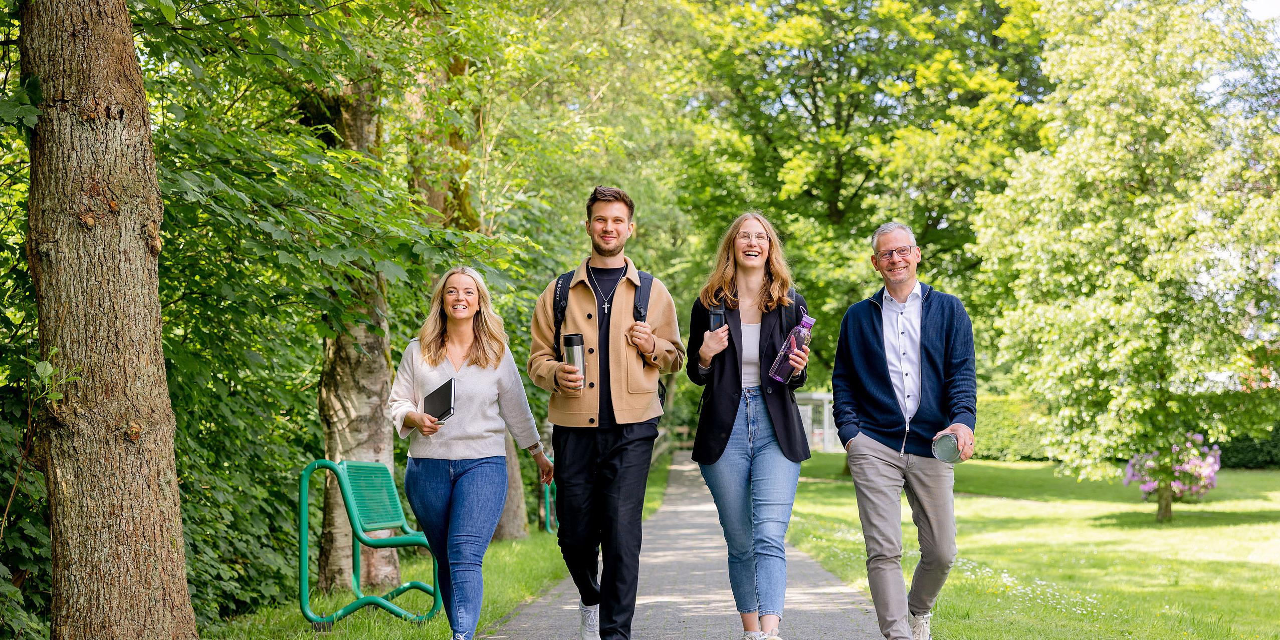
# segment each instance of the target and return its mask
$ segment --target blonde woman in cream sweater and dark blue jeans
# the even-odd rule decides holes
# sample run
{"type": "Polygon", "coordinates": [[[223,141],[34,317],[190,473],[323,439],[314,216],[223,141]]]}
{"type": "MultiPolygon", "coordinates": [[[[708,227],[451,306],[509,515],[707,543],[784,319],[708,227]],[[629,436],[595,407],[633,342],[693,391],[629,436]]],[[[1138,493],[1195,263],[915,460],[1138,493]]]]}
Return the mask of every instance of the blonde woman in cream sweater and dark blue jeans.
{"type": "Polygon", "coordinates": [[[454,268],[436,283],[426,323],[396,372],[390,410],[399,436],[410,439],[404,494],[440,563],[452,640],[471,640],[484,594],[481,561],[508,498],[504,430],[534,456],[541,481],[552,481],[502,317],[475,269],[454,268]],[[451,378],[454,411],[445,424],[421,403],[451,378]]]}

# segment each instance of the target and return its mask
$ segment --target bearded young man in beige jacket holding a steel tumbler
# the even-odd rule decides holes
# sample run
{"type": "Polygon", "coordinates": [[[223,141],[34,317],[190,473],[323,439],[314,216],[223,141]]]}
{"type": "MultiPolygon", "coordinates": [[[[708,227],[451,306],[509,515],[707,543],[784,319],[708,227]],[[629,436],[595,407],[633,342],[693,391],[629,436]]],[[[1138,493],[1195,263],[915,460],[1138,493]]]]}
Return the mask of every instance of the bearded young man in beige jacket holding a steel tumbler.
{"type": "Polygon", "coordinates": [[[635,232],[634,216],[635,205],[622,189],[591,192],[591,256],[566,278],[567,292],[561,279],[543,291],[531,328],[529,378],[552,392],[556,515],[561,553],[581,596],[581,640],[631,637],[640,515],[662,416],[658,379],[678,371],[685,360],[667,288],[653,279],[648,305],[636,303],[650,276],[622,255],[635,232]],[[557,332],[558,283],[567,306],[557,332]],[[556,348],[558,337],[568,334],[582,335],[585,371],[564,364],[556,348]]]}

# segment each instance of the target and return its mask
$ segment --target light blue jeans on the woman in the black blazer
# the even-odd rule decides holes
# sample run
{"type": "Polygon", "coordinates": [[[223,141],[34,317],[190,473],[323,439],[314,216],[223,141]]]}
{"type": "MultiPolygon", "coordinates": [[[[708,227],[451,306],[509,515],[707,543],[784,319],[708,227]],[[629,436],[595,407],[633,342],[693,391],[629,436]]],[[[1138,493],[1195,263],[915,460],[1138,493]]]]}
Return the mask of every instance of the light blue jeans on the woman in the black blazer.
{"type": "Polygon", "coordinates": [[[728,582],[739,613],[782,617],[787,524],[800,463],[778,448],[759,387],[742,389],[733,431],[713,465],[700,465],[728,544],[728,582]]]}

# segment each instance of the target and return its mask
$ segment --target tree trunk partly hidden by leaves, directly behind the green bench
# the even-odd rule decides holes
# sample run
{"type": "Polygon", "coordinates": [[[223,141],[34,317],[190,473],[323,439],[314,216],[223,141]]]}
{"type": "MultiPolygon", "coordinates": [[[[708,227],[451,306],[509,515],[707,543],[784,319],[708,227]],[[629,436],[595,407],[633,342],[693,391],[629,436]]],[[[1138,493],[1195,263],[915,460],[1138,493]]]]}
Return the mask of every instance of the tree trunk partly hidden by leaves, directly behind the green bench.
{"type": "MultiPolygon", "coordinates": [[[[372,154],[378,145],[376,83],[348,86],[330,104],[338,110],[334,128],[344,148],[372,154]]],[[[351,311],[369,323],[347,323],[344,330],[324,343],[324,369],[320,374],[320,419],[325,430],[325,457],[338,462],[358,460],[381,462],[396,471],[396,447],[387,398],[392,389],[390,343],[388,342],[385,280],[369,274],[349,287],[360,298],[351,311]]],[[[374,531],[387,538],[393,531],[374,531]]],[[[399,584],[399,556],[396,549],[361,548],[360,584],[385,586],[399,584]]],[[[325,481],[324,525],[320,535],[319,585],[324,590],[351,585],[352,531],[338,483],[330,474],[325,481]]]]}

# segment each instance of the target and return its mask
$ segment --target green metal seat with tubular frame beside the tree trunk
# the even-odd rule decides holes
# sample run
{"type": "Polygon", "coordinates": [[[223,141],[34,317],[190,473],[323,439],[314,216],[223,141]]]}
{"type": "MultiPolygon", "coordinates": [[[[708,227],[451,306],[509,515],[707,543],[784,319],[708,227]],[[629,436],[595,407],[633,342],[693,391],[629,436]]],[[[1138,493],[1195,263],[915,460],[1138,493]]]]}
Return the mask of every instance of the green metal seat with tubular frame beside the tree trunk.
{"type": "MultiPolygon", "coordinates": [[[[396,490],[396,480],[392,479],[387,465],[378,462],[343,461],[333,462],[317,460],[302,470],[298,479],[298,603],[302,607],[302,616],[311,622],[311,627],[317,631],[333,628],[333,623],[349,616],[362,607],[376,605],[390,614],[410,622],[425,622],[440,612],[443,605],[440,594],[431,585],[417,580],[404,582],[392,589],[387,595],[365,595],[360,590],[360,545],[385,549],[392,547],[425,547],[426,535],[408,527],[404,521],[404,509],[401,508],[399,493],[396,490]],[[342,490],[342,500],[347,506],[347,517],[351,518],[352,552],[351,552],[351,589],[356,593],[356,599],[329,616],[317,616],[311,611],[311,590],[308,586],[310,575],[307,567],[307,516],[310,502],[311,475],[320,468],[326,468],[338,477],[338,486],[342,490]],[[370,538],[370,531],[383,529],[399,529],[402,535],[390,538],[370,538]],[[433,598],[431,611],[415,616],[390,600],[398,595],[417,589],[433,598]]],[[[433,581],[440,584],[440,564],[433,554],[431,563],[435,567],[433,581]]]]}

